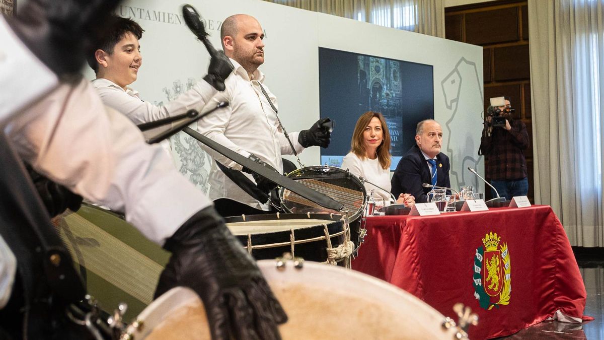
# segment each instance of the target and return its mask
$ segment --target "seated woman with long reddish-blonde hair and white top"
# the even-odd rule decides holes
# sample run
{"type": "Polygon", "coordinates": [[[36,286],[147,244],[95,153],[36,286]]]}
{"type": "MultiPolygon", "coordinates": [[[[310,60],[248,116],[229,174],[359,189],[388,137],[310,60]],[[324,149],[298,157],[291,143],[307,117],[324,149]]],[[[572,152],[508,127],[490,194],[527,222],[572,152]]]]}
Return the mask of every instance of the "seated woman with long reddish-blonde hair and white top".
{"type": "MultiPolygon", "coordinates": [[[[390,195],[390,132],[381,113],[368,111],[359,117],[350,148],[342,162],[342,169],[349,169],[352,174],[388,190],[365,182],[367,194],[373,190],[374,198],[384,198],[384,201],[393,203],[390,195]]],[[[396,203],[413,206],[415,197],[400,194],[396,203]]]]}

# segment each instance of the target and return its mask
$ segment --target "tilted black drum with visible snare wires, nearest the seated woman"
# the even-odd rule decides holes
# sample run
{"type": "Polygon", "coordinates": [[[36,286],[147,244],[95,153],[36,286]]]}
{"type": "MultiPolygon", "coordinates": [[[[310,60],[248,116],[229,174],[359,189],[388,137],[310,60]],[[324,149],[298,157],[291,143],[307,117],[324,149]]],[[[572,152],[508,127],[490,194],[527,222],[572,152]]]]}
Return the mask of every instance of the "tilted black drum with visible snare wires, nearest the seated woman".
{"type": "Polygon", "coordinates": [[[295,192],[281,188],[279,198],[283,209],[294,214],[306,214],[307,212],[344,214],[348,217],[350,224],[350,240],[355,243],[355,248],[358,248],[361,215],[365,211],[367,203],[367,191],[361,180],[349,171],[327,165],[297,169],[290,172],[288,177],[344,204],[345,211],[338,212],[324,208],[295,192]]]}

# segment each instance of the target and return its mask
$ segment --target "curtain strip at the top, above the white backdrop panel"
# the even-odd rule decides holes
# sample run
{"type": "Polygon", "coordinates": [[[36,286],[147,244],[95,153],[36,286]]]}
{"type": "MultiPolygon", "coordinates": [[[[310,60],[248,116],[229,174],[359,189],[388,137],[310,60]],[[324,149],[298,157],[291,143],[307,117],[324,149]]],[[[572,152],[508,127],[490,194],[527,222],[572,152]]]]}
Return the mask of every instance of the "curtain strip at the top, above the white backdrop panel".
{"type": "Polygon", "coordinates": [[[445,38],[443,0],[265,0],[445,38]]]}

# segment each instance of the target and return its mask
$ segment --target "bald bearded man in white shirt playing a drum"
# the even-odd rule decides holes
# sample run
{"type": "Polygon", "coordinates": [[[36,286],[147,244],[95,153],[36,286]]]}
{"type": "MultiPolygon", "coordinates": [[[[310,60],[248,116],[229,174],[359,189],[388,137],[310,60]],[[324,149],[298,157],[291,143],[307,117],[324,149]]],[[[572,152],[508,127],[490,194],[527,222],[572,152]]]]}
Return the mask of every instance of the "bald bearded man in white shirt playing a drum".
{"type": "MultiPolygon", "coordinates": [[[[286,139],[277,117],[277,98],[263,85],[265,76],[258,70],[264,63],[264,33],[260,23],[249,15],[226,18],[220,29],[222,47],[235,70],[225,80],[226,90],[216,94],[219,101],[228,100],[226,112],[202,118],[198,130],[214,141],[259,163],[283,172],[281,155],[297,154],[309,146],[327,148],[330,141],[329,119],[318,120],[310,129],[289,134],[286,139]]],[[[207,109],[206,109],[207,110],[207,109]]],[[[261,214],[269,211],[266,200],[252,197],[246,183],[255,183],[262,192],[274,184],[243,170],[231,160],[205,148],[220,165],[210,172],[210,198],[220,215],[261,214]],[[254,181],[251,181],[252,178],[254,181]],[[242,183],[243,182],[243,183],[242,183]]],[[[255,189],[255,188],[254,188],[255,189]]]]}

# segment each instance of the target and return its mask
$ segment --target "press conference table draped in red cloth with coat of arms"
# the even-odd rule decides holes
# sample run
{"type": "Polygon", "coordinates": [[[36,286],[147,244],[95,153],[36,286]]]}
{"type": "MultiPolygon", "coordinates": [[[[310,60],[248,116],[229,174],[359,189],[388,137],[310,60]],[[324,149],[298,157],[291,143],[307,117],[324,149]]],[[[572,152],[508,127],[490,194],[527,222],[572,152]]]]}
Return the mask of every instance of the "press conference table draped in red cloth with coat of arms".
{"type": "Polygon", "coordinates": [[[471,339],[510,335],[556,310],[583,316],[585,286],[549,206],[373,216],[365,227],[352,268],[405,289],[454,320],[456,302],[471,307],[480,318],[468,332],[471,339]]]}

